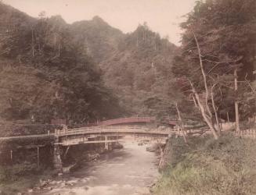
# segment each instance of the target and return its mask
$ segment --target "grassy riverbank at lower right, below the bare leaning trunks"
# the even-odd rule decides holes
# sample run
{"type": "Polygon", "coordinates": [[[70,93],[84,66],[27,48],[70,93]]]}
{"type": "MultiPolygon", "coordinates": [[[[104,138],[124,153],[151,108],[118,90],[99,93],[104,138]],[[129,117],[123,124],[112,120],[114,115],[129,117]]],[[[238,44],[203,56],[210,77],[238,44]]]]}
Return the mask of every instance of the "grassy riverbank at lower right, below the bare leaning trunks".
{"type": "Polygon", "coordinates": [[[190,137],[186,146],[182,138],[170,138],[162,161],[154,195],[256,194],[255,140],[190,137]]]}

